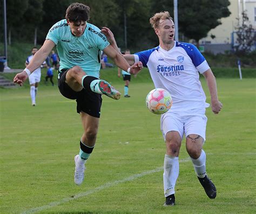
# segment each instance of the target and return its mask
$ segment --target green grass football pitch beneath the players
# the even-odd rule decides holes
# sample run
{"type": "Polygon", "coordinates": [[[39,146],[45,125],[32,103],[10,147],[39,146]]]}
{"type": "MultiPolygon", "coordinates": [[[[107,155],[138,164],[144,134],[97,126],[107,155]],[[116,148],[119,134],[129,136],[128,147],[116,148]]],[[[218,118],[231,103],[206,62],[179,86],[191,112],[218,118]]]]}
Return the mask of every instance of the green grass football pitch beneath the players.
{"type": "MultiPolygon", "coordinates": [[[[123,92],[123,81],[115,78],[113,85],[123,92]]],[[[183,142],[177,205],[169,208],[163,206],[160,116],[145,106],[150,80],[133,78],[130,98],[103,98],[96,147],[81,186],[73,183],[73,157],[83,133],[76,102],[43,81],[35,107],[28,84],[0,89],[0,213],[255,213],[255,79],[217,83],[224,107],[219,115],[207,109],[204,145],[217,198],[206,196],[183,142]]]]}

